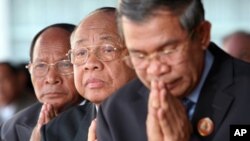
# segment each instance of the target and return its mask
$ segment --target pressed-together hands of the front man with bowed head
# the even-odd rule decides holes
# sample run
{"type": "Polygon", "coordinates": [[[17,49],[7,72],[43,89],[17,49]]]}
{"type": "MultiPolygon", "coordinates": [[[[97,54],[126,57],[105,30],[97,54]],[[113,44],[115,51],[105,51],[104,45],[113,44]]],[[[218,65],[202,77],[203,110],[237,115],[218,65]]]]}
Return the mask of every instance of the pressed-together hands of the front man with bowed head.
{"type": "Polygon", "coordinates": [[[192,132],[181,101],[161,81],[151,82],[147,115],[148,141],[188,141],[192,132]]]}

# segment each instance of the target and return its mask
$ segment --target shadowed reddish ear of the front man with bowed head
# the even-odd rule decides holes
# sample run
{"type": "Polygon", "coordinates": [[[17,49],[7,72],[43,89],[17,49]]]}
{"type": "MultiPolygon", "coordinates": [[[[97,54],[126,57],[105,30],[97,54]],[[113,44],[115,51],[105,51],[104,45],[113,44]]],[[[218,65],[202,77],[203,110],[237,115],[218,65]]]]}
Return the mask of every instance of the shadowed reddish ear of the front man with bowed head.
{"type": "Polygon", "coordinates": [[[210,43],[211,24],[208,21],[203,21],[199,25],[197,33],[199,42],[202,45],[202,49],[207,49],[210,43]]]}

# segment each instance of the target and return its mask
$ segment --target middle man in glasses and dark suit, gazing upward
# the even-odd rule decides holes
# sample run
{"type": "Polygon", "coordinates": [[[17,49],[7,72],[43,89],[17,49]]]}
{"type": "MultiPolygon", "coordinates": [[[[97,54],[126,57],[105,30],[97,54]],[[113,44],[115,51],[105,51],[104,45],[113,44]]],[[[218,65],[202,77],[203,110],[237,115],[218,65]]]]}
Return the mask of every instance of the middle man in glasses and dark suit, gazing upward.
{"type": "MultiPolygon", "coordinates": [[[[135,78],[134,70],[123,60],[128,51],[118,34],[115,12],[115,8],[104,7],[90,13],[73,32],[67,54],[74,66],[78,92],[97,109],[114,91],[135,78]]],[[[90,109],[76,107],[61,114],[43,126],[42,140],[87,141],[94,118],[90,109]]]]}

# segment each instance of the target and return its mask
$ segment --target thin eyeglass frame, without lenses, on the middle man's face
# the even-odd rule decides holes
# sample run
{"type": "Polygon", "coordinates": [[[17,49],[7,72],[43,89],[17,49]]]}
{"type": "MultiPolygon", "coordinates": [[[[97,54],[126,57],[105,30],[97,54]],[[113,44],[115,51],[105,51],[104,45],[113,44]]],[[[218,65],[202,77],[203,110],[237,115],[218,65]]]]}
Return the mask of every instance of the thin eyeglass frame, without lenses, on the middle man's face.
{"type": "MultiPolygon", "coordinates": [[[[115,45],[113,44],[104,44],[104,45],[109,45],[109,46],[112,46],[112,48],[114,49],[115,52],[120,52],[123,51],[124,49],[126,49],[125,47],[115,47],[115,45]]],[[[113,61],[113,60],[116,60],[120,53],[116,55],[116,57],[112,58],[111,60],[102,60],[99,56],[97,56],[97,49],[99,49],[98,47],[101,47],[102,45],[92,45],[92,46],[83,46],[83,47],[78,47],[78,48],[73,48],[73,49],[70,49],[68,51],[68,53],[66,54],[66,56],[68,56],[68,59],[71,61],[72,64],[74,65],[83,65],[87,62],[89,56],[90,56],[90,53],[94,52],[94,55],[95,57],[99,60],[99,61],[103,61],[103,62],[109,62],[109,61],[113,61]],[[72,60],[72,57],[71,57],[71,54],[74,55],[74,50],[79,50],[79,49],[86,49],[87,50],[87,56],[85,58],[85,60],[82,62],[82,63],[75,63],[73,60],[72,60]],[[94,48],[94,49],[93,49],[94,48]]],[[[121,45],[117,45],[117,46],[121,46],[121,45]]],[[[121,57],[122,58],[122,57],[121,57]]]]}

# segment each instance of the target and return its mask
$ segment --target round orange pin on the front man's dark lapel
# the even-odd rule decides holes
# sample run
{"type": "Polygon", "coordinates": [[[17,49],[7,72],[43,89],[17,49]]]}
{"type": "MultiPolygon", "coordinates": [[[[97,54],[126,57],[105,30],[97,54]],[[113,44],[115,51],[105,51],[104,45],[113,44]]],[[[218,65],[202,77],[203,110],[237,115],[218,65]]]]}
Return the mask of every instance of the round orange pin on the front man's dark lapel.
{"type": "Polygon", "coordinates": [[[209,117],[205,117],[198,122],[198,132],[201,136],[205,137],[214,131],[214,123],[209,117]]]}

